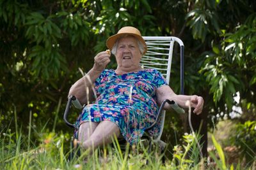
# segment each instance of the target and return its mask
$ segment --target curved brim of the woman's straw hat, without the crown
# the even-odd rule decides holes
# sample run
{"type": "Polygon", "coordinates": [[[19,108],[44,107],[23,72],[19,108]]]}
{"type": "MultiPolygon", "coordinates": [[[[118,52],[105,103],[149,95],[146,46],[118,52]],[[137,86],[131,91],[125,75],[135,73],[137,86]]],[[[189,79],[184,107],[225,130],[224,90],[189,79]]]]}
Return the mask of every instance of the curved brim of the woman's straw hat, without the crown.
{"type": "Polygon", "coordinates": [[[113,36],[110,36],[106,41],[106,45],[108,46],[108,49],[112,50],[113,46],[115,45],[116,40],[124,35],[131,35],[131,36],[134,36],[135,38],[137,38],[144,45],[143,55],[147,52],[147,44],[146,44],[145,40],[138,34],[132,34],[132,33],[128,33],[128,32],[118,33],[113,36]]]}

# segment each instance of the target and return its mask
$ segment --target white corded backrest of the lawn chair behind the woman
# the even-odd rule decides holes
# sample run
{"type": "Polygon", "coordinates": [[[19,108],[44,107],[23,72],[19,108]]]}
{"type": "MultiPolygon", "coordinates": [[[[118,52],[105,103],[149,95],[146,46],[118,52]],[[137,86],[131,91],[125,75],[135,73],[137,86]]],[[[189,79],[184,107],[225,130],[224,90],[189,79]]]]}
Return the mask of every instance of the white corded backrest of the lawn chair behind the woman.
{"type": "MultiPolygon", "coordinates": [[[[173,37],[173,36],[143,36],[143,39],[146,41],[148,50],[147,50],[147,53],[145,53],[145,55],[141,59],[141,62],[140,62],[141,67],[143,67],[144,69],[157,69],[163,74],[164,78],[166,78],[167,83],[170,83],[173,45],[175,42],[177,42],[179,43],[180,47],[184,49],[183,42],[179,38],[173,37]]],[[[182,53],[183,55],[183,51],[182,52],[180,51],[180,53],[182,53]]],[[[183,62],[183,59],[182,59],[182,62],[183,62]]],[[[182,71],[180,73],[183,74],[183,66],[182,66],[182,71]]],[[[183,82],[182,82],[182,86],[183,86],[183,82]]],[[[159,136],[157,136],[157,138],[154,139],[155,142],[159,141],[163,134],[164,119],[165,119],[165,111],[163,111],[162,113],[162,117],[160,120],[161,129],[160,129],[159,136]]]]}

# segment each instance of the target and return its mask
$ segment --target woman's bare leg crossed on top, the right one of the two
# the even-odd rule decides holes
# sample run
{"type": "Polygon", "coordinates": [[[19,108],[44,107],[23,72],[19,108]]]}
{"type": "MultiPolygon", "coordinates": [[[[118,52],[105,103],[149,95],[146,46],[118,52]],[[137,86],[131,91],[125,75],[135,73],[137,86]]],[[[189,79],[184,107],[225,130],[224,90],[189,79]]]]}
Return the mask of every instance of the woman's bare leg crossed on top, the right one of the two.
{"type": "Polygon", "coordinates": [[[89,138],[86,138],[81,146],[84,149],[96,148],[97,146],[110,143],[114,136],[118,138],[119,135],[120,129],[118,125],[108,120],[102,121],[97,125],[92,134],[90,134],[89,138]]]}

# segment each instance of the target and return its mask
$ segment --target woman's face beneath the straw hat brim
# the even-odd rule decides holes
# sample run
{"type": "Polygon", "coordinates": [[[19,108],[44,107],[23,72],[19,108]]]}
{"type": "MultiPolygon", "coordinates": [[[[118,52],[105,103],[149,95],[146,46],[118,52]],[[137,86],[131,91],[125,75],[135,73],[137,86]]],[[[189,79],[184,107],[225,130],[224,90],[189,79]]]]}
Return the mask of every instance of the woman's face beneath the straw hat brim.
{"type": "Polygon", "coordinates": [[[126,36],[118,40],[116,48],[116,62],[123,71],[135,71],[138,69],[142,55],[138,40],[133,36],[126,36]]]}

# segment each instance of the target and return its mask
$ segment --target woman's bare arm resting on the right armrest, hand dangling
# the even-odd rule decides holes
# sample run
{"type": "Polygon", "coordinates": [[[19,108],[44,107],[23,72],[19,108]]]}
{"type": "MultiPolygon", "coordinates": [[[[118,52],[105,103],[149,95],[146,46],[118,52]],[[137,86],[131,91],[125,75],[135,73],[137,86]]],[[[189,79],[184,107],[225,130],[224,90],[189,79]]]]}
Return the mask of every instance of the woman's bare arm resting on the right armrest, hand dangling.
{"type": "MultiPolygon", "coordinates": [[[[204,107],[204,99],[200,96],[186,96],[186,95],[177,95],[168,85],[163,85],[156,90],[157,103],[161,104],[164,99],[170,99],[175,101],[182,108],[188,108],[186,106],[186,101],[190,101],[191,107],[195,108],[193,111],[197,115],[200,114],[204,107]]],[[[166,104],[164,106],[165,110],[170,110],[171,106],[166,104]]]]}

